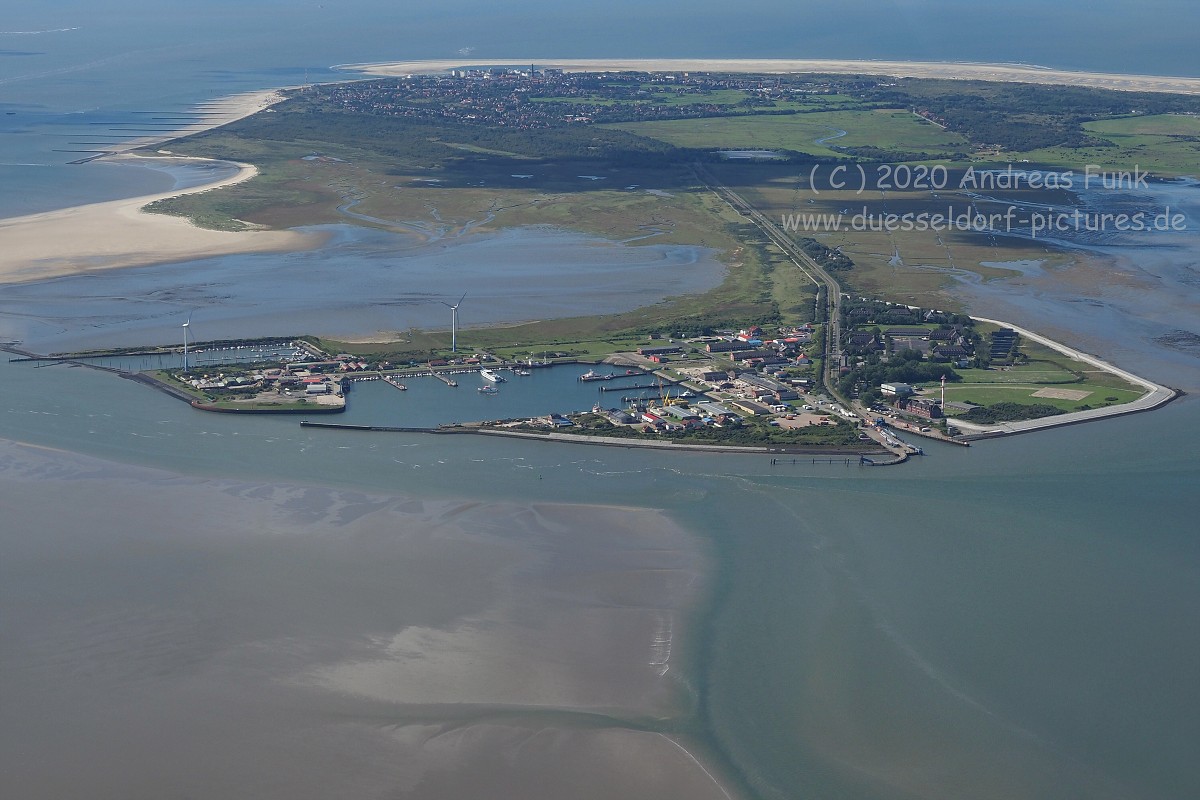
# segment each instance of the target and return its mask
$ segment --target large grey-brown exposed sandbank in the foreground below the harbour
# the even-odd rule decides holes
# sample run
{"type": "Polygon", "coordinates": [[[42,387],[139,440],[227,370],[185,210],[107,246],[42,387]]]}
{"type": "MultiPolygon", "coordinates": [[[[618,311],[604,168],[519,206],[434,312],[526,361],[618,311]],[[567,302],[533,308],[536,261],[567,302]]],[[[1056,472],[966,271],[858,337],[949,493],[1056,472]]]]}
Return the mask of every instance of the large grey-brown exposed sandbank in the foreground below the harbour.
{"type": "Polygon", "coordinates": [[[14,796],[730,796],[672,733],[707,557],[658,511],[5,440],[0,506],[14,796]]]}

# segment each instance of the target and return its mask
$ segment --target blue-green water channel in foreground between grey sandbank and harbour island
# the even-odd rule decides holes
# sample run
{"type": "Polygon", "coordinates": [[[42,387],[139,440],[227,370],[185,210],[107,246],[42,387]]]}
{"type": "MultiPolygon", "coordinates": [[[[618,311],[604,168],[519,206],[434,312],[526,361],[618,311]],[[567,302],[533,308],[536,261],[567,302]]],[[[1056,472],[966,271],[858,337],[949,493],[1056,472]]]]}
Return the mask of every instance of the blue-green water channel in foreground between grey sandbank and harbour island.
{"type": "MultiPolygon", "coordinates": [[[[0,384],[22,387],[0,437],[104,458],[667,509],[718,564],[685,643],[702,700],[686,727],[761,796],[1200,786],[1192,402],[870,469],[313,431],[65,367],[0,365],[0,384]]],[[[454,391],[376,389],[352,395],[364,417],[454,391]]]]}

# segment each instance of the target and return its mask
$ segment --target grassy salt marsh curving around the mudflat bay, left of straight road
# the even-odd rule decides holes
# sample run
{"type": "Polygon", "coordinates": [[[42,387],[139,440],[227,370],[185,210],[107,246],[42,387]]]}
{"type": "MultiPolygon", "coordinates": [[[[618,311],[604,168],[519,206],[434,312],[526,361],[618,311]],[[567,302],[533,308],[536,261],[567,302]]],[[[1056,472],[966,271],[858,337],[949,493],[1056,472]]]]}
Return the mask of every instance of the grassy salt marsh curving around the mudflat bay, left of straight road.
{"type": "MultiPolygon", "coordinates": [[[[262,125],[276,126],[275,119],[262,125]]],[[[257,131],[256,131],[257,132],[257,131]]],[[[434,230],[454,236],[466,230],[548,224],[582,230],[616,241],[688,243],[710,247],[728,265],[716,289],[672,299],[625,314],[544,320],[510,327],[464,331],[469,347],[509,344],[514,354],[558,347],[587,357],[616,348],[606,337],[650,329],[686,330],[697,324],[745,324],[774,318],[775,288],[761,237],[726,204],[706,191],[691,169],[624,164],[607,161],[511,160],[470,154],[462,162],[446,148],[448,160],[424,166],[421,155],[396,152],[395,142],[373,148],[346,144],[317,125],[269,128],[246,136],[236,127],[172,143],[178,154],[248,161],[259,178],[222,190],[156,204],[155,210],[188,216],[214,227],[245,221],[266,228],[354,222],[427,237],[434,230]],[[270,138],[268,138],[270,137],[270,138]],[[319,158],[310,156],[318,155],[319,158]],[[521,176],[518,176],[521,175],[521,176]],[[529,178],[524,178],[529,175],[529,178]],[[590,180],[596,175],[602,180],[590,180]],[[653,190],[653,191],[648,191],[653,190]],[[342,212],[353,204],[353,218],[342,212]],[[590,342],[590,344],[581,344],[590,342]],[[571,347],[568,347],[571,345],[571,347]],[[605,350],[608,348],[608,350],[605,350]]],[[[440,143],[434,143],[440,144],[440,143]]],[[[792,276],[788,276],[791,279],[792,276]]],[[[780,293],[786,299],[787,291],[780,293]]],[[[792,303],[794,305],[794,303],[792,303]]],[[[804,301],[800,302],[804,305],[804,301]]],[[[796,314],[792,314],[794,318],[796,314]]],[[[391,348],[338,344],[349,353],[430,353],[445,347],[440,332],[413,331],[391,348]]]]}

